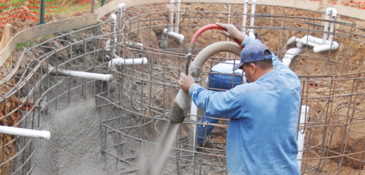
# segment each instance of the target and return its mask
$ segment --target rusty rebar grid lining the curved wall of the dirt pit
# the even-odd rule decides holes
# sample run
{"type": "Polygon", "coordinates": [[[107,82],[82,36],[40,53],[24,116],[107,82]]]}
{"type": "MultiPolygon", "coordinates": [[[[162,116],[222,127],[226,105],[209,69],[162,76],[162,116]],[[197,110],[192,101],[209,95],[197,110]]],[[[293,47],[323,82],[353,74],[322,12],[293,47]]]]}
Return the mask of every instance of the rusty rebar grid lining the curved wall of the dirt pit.
{"type": "MultiPolygon", "coordinates": [[[[46,125],[52,111],[67,107],[61,102],[70,103],[91,95],[95,98],[97,115],[101,118],[101,152],[107,162],[105,166],[112,168],[110,171],[115,174],[135,173],[142,166],[142,160],[153,152],[168,121],[166,117],[178,91],[177,76],[185,69],[185,55],[193,33],[201,26],[217,21],[229,21],[241,28],[244,14],[240,11],[243,11],[242,4],[181,3],[179,32],[185,39],[178,43],[168,38],[167,48],[161,49],[158,46],[160,33],[163,28],[169,27],[168,5],[127,7],[121,27],[110,24],[105,17],[103,23],[59,33],[25,49],[14,65],[14,69],[22,73],[2,75],[5,78],[0,85],[9,84],[11,89],[1,100],[6,102],[4,99],[12,95],[33,99],[34,111],[23,111],[16,126],[40,129],[46,125]],[[114,32],[110,32],[112,27],[115,27],[114,32]],[[112,42],[118,36],[123,38],[123,42],[112,42]],[[120,57],[147,57],[148,64],[108,67],[111,54],[106,50],[110,48],[104,47],[107,40],[116,46],[115,54],[120,57]],[[143,47],[128,47],[127,41],[140,42],[143,47]],[[35,59],[26,66],[20,64],[27,57],[35,59]],[[110,73],[115,80],[105,82],[52,76],[47,69],[50,65],[69,70],[110,73]],[[11,77],[16,79],[15,83],[9,83],[11,77]]],[[[255,11],[253,29],[257,37],[279,58],[289,48],[295,47],[295,44],[286,44],[291,36],[321,37],[324,33],[323,22],[332,22],[321,17],[324,11],[260,5],[256,6],[255,11]]],[[[341,16],[340,21],[335,21],[336,29],[332,33],[326,32],[333,34],[333,40],[340,42],[337,50],[314,53],[312,47],[307,46],[289,66],[301,80],[301,104],[309,106],[305,123],[298,123],[303,125],[299,132],[305,130],[302,174],[335,174],[344,169],[346,173],[361,174],[365,167],[365,130],[362,126],[365,67],[361,47],[355,46],[365,42],[364,24],[362,20],[341,16]]],[[[226,38],[216,30],[205,31],[196,42],[193,58],[205,46],[222,40],[226,38]]],[[[205,86],[205,78],[212,65],[228,59],[239,60],[239,57],[219,53],[209,58],[204,64],[200,84],[205,86]]],[[[17,111],[7,111],[0,119],[17,111]]],[[[197,117],[203,117],[202,113],[199,110],[197,117]]],[[[181,124],[165,174],[226,174],[227,125],[223,119],[218,124],[211,124],[215,126],[214,131],[203,147],[197,147],[188,143],[188,139],[192,138],[188,133],[193,125],[198,124],[210,123],[200,123],[186,117],[181,124]]],[[[11,142],[15,142],[15,154],[4,160],[2,153],[2,174],[6,174],[4,167],[13,159],[15,165],[8,172],[31,173],[36,168],[36,163],[31,161],[32,156],[41,151],[34,146],[36,140],[18,136],[11,142]]],[[[5,152],[7,145],[1,147],[2,152],[5,152]]]]}

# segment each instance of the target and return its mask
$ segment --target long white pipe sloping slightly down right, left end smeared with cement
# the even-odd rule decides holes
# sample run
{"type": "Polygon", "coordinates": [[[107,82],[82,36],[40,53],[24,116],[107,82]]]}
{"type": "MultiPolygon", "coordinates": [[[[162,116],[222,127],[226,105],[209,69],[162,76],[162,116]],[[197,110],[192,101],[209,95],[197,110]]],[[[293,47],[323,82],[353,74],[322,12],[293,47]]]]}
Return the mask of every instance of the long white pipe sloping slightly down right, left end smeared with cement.
{"type": "Polygon", "coordinates": [[[51,75],[59,75],[59,76],[71,76],[71,77],[79,77],[86,79],[95,79],[102,81],[112,81],[113,75],[111,74],[101,74],[101,73],[91,73],[84,71],[75,71],[75,70],[65,70],[65,69],[56,69],[55,67],[48,67],[49,74],[51,75]]]}

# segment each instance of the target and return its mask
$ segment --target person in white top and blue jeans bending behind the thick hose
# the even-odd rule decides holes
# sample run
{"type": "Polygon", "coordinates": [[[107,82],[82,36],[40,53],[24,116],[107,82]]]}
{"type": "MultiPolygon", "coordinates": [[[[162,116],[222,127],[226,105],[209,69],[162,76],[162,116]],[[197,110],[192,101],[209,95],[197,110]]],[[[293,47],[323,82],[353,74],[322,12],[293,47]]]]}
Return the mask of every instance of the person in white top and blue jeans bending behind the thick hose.
{"type": "MultiPolygon", "coordinates": [[[[211,67],[210,72],[205,79],[206,87],[209,87],[212,90],[221,91],[229,90],[238,84],[244,83],[246,78],[244,77],[244,74],[242,74],[242,69],[232,70],[233,66],[237,63],[239,63],[239,60],[228,60],[215,64],[211,67]]],[[[219,117],[204,112],[203,117],[200,118],[200,122],[202,124],[199,124],[197,129],[197,146],[204,146],[203,143],[205,138],[210,135],[214,128],[214,125],[211,123],[215,124],[218,122],[218,119],[216,118],[219,117]]]]}

